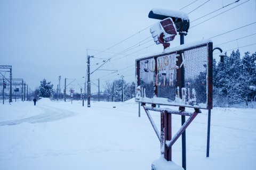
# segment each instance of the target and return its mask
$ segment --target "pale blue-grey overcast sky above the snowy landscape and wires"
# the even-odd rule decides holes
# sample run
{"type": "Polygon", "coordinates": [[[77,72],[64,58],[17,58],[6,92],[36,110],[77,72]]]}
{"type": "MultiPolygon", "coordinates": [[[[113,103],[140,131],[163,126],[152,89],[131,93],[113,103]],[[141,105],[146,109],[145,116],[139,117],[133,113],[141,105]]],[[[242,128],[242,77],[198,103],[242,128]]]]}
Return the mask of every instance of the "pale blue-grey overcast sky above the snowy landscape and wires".
{"type": "MultiPolygon", "coordinates": [[[[79,92],[78,89],[81,86],[84,87],[86,56],[94,55],[95,58],[91,58],[91,72],[108,58],[111,58],[110,62],[101,69],[118,70],[116,73],[95,71],[91,75],[91,80],[95,84],[98,84],[97,79],[100,78],[101,89],[106,81],[119,79],[121,75],[124,75],[124,80],[131,82],[135,79],[135,59],[142,54],[163,50],[162,45],[154,45],[153,38],[148,38],[151,36],[148,27],[157,22],[148,18],[151,8],[179,11],[185,7],[181,11],[189,13],[198,7],[188,14],[190,29],[185,37],[186,44],[256,22],[255,0],[241,0],[223,7],[233,2],[235,0],[198,0],[196,2],[195,0],[1,0],[0,65],[12,65],[13,78],[25,79],[32,90],[39,87],[43,79],[51,81],[57,88],[58,77],[61,75],[61,91],[63,91],[64,79],[68,78],[67,84],[76,79],[68,89],[73,86],[76,92],[79,92]],[[192,2],[194,3],[185,7],[192,2]],[[200,5],[202,6],[199,7],[200,5]],[[219,8],[222,9],[201,18],[219,8]],[[233,9],[225,12],[230,8],[233,9]],[[220,14],[222,12],[225,13],[220,14]],[[215,16],[217,14],[220,15],[215,16]],[[215,17],[212,18],[213,16],[215,17]],[[198,18],[201,19],[196,20],[198,18]],[[201,22],[203,23],[198,24],[201,22]],[[193,27],[194,25],[196,26],[193,27]],[[129,38],[132,35],[134,36],[129,38]],[[126,38],[129,39],[125,40],[126,38]],[[146,40],[139,43],[144,39],[146,40]],[[121,41],[123,43],[118,44],[121,41]],[[119,55],[115,54],[134,45],[138,47],[119,55]],[[106,51],[98,54],[97,50],[106,51]]],[[[220,47],[224,51],[228,50],[228,54],[231,53],[230,49],[238,47],[242,55],[247,51],[255,53],[256,35],[253,35],[254,33],[256,33],[256,23],[212,38],[213,46],[235,40],[220,47]],[[249,37],[242,38],[245,36],[249,37]]],[[[179,36],[171,42],[171,47],[178,45],[179,36]]],[[[219,52],[216,50],[214,53],[219,52]]],[[[215,54],[214,58],[219,59],[218,55],[215,54]]],[[[9,77],[9,73],[3,71],[1,70],[1,73],[9,77]]],[[[2,78],[2,75],[0,77],[2,78]]],[[[93,83],[92,92],[95,92],[98,88],[93,83]]]]}

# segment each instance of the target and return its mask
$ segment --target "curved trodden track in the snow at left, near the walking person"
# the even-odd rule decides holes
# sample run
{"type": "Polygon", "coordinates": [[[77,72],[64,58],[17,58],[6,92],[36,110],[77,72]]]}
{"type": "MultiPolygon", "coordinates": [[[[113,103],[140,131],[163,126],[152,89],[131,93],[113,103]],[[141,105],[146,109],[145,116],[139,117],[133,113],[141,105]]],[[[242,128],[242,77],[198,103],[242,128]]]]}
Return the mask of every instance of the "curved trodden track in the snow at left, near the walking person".
{"type": "Polygon", "coordinates": [[[44,113],[41,113],[36,116],[31,116],[27,118],[21,118],[19,120],[4,121],[0,122],[0,126],[4,125],[17,125],[21,123],[44,123],[57,121],[62,118],[70,117],[75,115],[74,112],[70,112],[60,108],[54,108],[49,106],[38,106],[44,109],[44,113]]]}

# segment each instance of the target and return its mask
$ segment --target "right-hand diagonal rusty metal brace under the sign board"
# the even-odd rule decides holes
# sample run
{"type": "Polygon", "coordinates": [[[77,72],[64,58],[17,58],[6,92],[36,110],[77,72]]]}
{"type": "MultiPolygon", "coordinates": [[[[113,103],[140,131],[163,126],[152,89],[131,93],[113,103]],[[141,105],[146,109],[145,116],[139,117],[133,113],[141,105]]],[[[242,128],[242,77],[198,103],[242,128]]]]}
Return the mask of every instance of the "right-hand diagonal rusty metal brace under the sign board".
{"type": "Polygon", "coordinates": [[[194,120],[198,113],[201,113],[200,109],[195,109],[195,112],[188,118],[188,120],[181,126],[180,130],[174,135],[172,140],[166,141],[167,149],[170,149],[172,145],[177,141],[180,135],[187,129],[188,125],[194,120]]]}

